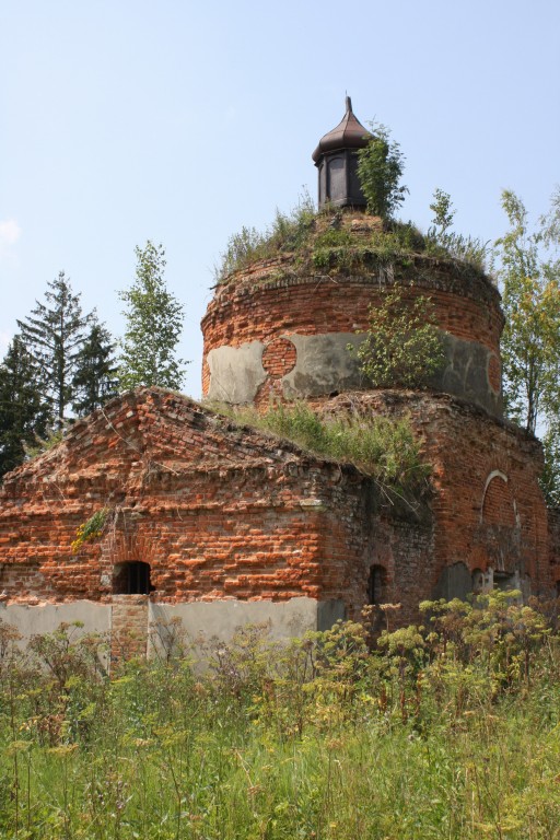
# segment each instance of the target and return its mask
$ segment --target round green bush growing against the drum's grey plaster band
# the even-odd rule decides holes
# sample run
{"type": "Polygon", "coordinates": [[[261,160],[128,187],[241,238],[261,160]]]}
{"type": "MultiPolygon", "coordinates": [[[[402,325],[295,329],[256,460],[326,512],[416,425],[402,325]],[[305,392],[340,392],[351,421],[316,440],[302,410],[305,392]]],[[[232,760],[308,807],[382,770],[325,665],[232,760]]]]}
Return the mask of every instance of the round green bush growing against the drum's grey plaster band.
{"type": "Polygon", "coordinates": [[[418,295],[409,300],[401,289],[388,289],[381,305],[370,307],[369,322],[355,353],[372,385],[425,387],[445,360],[430,299],[418,295]]]}

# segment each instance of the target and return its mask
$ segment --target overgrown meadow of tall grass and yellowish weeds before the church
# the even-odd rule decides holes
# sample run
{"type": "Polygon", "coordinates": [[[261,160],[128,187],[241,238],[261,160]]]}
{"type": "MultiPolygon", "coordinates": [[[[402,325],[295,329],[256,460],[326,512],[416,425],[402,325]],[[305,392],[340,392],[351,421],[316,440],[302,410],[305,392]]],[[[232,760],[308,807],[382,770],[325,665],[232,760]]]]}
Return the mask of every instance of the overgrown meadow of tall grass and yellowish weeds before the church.
{"type": "Polygon", "coordinates": [[[61,627],[0,628],[0,837],[560,838],[557,604],[396,607],[287,644],[180,626],[112,666],[61,627]]]}

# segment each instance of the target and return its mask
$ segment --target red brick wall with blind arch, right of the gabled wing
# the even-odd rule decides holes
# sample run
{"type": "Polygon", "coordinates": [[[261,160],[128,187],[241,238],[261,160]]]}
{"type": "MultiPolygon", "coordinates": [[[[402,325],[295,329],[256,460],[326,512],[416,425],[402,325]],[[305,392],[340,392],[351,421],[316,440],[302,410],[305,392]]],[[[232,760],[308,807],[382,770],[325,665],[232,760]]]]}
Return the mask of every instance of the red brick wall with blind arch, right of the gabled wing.
{"type": "MultiPolygon", "coordinates": [[[[372,392],[337,397],[327,409],[350,405],[409,416],[423,441],[433,465],[432,575],[457,562],[471,571],[518,569],[529,575],[534,593],[550,594],[548,514],[538,486],[542,455],[536,439],[446,395],[372,392]],[[508,480],[488,481],[495,471],[508,480]]],[[[424,588],[422,581],[412,585],[424,588]]]]}

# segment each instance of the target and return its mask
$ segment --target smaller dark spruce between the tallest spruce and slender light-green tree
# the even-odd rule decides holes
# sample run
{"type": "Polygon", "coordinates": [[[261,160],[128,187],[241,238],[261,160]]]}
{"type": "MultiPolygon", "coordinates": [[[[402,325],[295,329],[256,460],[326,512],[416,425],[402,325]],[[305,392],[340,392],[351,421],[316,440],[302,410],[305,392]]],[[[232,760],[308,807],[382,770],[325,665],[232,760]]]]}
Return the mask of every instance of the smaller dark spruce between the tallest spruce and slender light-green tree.
{"type": "Polygon", "coordinates": [[[80,417],[101,408],[118,393],[115,345],[103,324],[94,320],[75,358],[72,408],[80,417]]]}

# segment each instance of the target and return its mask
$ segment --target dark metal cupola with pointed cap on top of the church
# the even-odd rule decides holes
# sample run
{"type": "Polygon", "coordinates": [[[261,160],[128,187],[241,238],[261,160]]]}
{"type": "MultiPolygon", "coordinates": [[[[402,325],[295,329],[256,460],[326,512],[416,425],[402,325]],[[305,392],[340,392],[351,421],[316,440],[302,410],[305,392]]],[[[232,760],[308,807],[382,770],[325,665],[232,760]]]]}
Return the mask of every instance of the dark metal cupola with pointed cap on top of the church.
{"type": "Polygon", "coordinates": [[[341,122],[319,140],[312,155],[319,171],[319,209],[327,203],[365,207],[358,178],[357,150],[368,145],[370,138],[370,131],[354,117],[352,101],[347,96],[341,122]]]}

